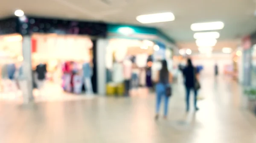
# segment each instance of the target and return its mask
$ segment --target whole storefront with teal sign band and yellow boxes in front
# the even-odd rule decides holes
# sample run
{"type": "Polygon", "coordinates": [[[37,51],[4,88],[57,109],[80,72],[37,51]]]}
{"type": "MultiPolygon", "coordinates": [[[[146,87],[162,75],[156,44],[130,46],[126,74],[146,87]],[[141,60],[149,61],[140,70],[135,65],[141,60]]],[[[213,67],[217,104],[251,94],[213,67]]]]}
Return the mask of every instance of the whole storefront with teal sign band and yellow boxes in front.
{"type": "Polygon", "coordinates": [[[132,89],[153,87],[152,76],[160,60],[172,64],[173,43],[163,42],[157,32],[155,28],[108,25],[108,39],[101,48],[104,54],[97,56],[100,67],[105,67],[99,75],[105,79],[98,82],[99,93],[128,95],[132,89]]]}

